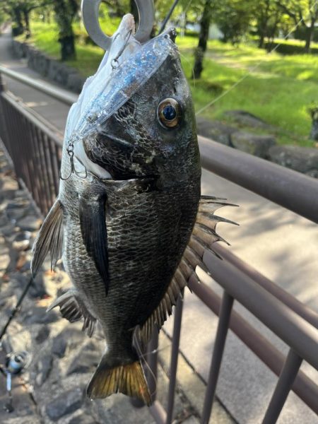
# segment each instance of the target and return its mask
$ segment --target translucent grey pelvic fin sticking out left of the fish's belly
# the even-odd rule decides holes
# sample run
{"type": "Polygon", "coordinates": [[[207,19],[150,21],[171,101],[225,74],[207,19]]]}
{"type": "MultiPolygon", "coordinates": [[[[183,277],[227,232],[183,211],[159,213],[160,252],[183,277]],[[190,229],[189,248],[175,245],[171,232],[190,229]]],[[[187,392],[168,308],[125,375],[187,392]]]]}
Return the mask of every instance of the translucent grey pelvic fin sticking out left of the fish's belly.
{"type": "Polygon", "coordinates": [[[47,254],[51,253],[51,269],[62,255],[63,246],[63,211],[57,199],[45,218],[33,245],[31,271],[33,276],[39,271],[47,254]]]}

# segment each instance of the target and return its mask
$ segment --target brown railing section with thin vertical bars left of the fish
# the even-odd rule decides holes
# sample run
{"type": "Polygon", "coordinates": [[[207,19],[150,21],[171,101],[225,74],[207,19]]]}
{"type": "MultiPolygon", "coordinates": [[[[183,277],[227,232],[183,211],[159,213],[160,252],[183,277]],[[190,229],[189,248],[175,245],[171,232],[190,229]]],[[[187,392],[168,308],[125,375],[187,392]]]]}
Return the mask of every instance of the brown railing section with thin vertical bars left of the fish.
{"type": "MultiPolygon", "coordinates": [[[[11,75],[12,71],[0,68],[0,76],[4,72],[11,75]]],[[[30,85],[30,81],[25,83],[30,85]]],[[[31,86],[42,88],[39,83],[31,86]]],[[[13,161],[20,184],[25,185],[45,216],[59,192],[63,135],[12,93],[6,93],[1,80],[0,90],[0,137],[13,161]]],[[[71,102],[71,98],[68,100],[71,102]]]]}

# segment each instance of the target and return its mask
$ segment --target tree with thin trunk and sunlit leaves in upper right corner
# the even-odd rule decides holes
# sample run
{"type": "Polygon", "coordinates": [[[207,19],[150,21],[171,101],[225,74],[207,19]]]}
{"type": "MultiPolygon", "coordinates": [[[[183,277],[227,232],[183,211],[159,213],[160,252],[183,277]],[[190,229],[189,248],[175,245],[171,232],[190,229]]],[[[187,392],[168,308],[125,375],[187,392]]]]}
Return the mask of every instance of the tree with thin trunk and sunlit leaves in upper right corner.
{"type": "Polygon", "coordinates": [[[316,0],[279,0],[276,1],[283,13],[293,19],[295,25],[305,28],[305,52],[310,53],[310,45],[318,21],[316,0]]]}

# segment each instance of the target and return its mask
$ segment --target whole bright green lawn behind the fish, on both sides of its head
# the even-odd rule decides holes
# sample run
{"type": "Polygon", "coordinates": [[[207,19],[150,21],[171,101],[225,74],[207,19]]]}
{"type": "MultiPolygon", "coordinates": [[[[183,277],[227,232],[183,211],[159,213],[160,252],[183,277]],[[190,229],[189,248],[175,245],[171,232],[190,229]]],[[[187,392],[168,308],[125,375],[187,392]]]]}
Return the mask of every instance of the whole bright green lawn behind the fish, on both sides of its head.
{"type": "MultiPolygon", "coordinates": [[[[105,20],[101,23],[107,33],[112,33],[117,23],[105,20]]],[[[33,22],[33,42],[52,57],[59,57],[57,27],[52,24],[33,22]]],[[[88,44],[88,37],[80,24],[75,25],[77,60],[69,61],[88,76],[98,68],[102,58],[99,47],[88,44]]],[[[276,126],[279,143],[295,143],[314,146],[307,139],[310,133],[310,116],[307,108],[318,99],[318,59],[310,54],[281,56],[266,54],[254,45],[233,47],[218,41],[208,43],[204,71],[200,81],[191,78],[194,37],[177,37],[182,54],[182,65],[189,77],[196,110],[217,99],[202,116],[223,120],[226,110],[247,110],[276,126]],[[247,76],[231,89],[233,84],[247,76]],[[223,97],[226,90],[230,91],[223,97]]]]}

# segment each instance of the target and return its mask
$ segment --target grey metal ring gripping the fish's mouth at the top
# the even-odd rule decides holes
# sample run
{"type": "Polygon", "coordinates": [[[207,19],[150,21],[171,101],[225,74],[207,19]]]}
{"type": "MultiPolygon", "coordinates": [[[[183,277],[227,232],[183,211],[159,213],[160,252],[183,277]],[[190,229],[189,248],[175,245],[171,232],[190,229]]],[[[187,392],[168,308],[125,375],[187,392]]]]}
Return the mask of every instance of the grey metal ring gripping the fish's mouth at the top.
{"type": "MultiPolygon", "coordinates": [[[[139,28],[135,38],[143,43],[149,40],[155,20],[153,0],[134,0],[139,14],[139,28]]],[[[90,38],[102,49],[107,51],[112,44],[112,37],[105,35],[98,19],[98,10],[102,0],[82,0],[82,18],[90,38]]]]}

